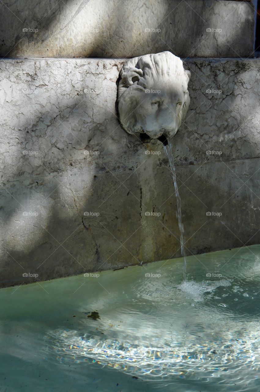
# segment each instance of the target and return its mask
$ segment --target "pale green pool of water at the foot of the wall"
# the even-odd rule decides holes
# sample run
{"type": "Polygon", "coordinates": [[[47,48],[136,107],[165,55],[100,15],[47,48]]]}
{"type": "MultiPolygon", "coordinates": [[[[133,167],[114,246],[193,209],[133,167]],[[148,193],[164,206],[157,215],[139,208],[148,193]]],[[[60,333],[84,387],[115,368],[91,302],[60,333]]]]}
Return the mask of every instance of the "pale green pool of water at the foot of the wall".
{"type": "Polygon", "coordinates": [[[260,388],[260,245],[0,290],[0,392],[260,388]]]}

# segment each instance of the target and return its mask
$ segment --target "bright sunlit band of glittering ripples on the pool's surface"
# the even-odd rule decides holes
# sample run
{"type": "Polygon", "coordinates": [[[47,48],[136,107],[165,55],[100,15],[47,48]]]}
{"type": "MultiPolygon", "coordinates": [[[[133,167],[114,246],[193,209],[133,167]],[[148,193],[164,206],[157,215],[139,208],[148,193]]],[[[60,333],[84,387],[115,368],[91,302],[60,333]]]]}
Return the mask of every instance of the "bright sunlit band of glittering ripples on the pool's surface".
{"type": "Polygon", "coordinates": [[[77,331],[56,330],[48,336],[49,344],[58,358],[65,361],[89,361],[107,365],[127,374],[143,379],[172,375],[188,375],[203,372],[201,377],[220,377],[229,370],[238,377],[250,366],[259,371],[259,333],[250,331],[235,337],[227,334],[226,339],[203,341],[197,336],[188,336],[185,347],[163,345],[145,347],[142,341],[133,345],[130,341],[117,341],[87,336],[79,338],[77,331]],[[198,341],[200,340],[200,341],[198,341]]]}

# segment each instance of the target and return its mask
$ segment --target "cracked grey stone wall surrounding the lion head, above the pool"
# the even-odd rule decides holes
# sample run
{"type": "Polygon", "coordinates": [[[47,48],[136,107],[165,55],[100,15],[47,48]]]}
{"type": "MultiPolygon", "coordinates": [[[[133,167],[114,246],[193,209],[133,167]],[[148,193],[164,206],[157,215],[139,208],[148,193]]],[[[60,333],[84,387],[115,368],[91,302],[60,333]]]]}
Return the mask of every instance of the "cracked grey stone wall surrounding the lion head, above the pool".
{"type": "MultiPolygon", "coordinates": [[[[123,62],[0,62],[1,286],[180,256],[162,144],[115,114],[123,62]]],[[[187,253],[259,243],[260,60],[184,66],[190,110],[172,142],[187,253]]]]}

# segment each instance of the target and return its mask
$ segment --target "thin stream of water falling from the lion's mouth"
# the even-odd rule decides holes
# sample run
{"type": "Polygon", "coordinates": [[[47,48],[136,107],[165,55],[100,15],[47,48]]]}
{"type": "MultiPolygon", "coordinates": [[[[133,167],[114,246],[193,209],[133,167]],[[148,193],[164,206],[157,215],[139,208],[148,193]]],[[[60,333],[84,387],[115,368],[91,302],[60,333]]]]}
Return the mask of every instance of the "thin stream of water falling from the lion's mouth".
{"type": "Polygon", "coordinates": [[[173,178],[173,183],[174,183],[174,188],[175,188],[175,195],[176,195],[176,200],[177,200],[177,217],[178,217],[178,223],[179,223],[179,230],[180,230],[180,242],[181,242],[181,255],[184,258],[184,264],[183,264],[183,278],[184,282],[186,281],[186,265],[187,265],[187,257],[186,257],[186,250],[184,247],[184,226],[183,223],[181,223],[181,198],[179,194],[179,189],[176,181],[176,173],[175,173],[175,167],[174,167],[174,162],[173,162],[173,153],[172,153],[172,143],[168,141],[167,144],[164,143],[163,145],[164,151],[166,155],[168,156],[169,162],[170,162],[170,167],[172,170],[172,178],[173,178]]]}

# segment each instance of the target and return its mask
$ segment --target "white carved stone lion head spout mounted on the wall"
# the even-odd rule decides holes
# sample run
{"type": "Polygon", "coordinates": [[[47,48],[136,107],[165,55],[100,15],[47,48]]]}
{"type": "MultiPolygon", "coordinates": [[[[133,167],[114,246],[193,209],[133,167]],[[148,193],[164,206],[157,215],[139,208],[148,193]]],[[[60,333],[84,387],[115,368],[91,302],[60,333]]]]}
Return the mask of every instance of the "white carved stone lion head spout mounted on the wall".
{"type": "Polygon", "coordinates": [[[188,111],[190,71],[170,52],[129,59],[120,71],[118,111],[130,134],[173,136],[188,111]]]}

